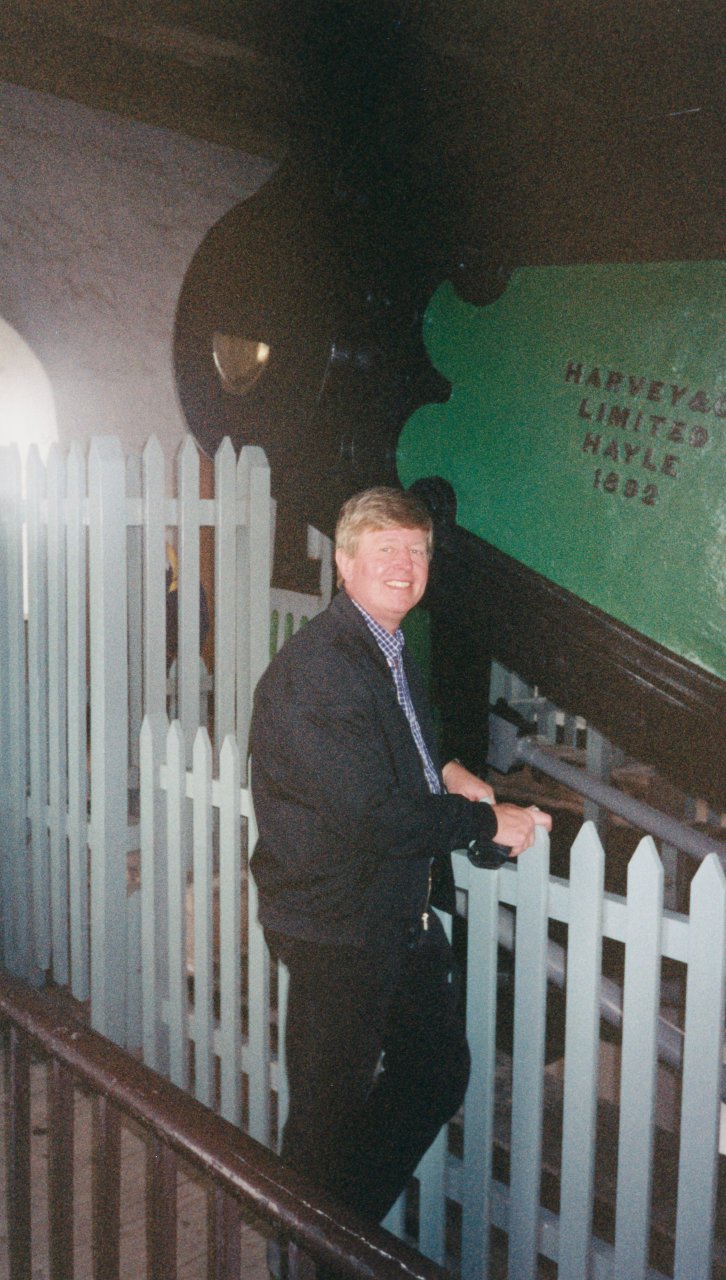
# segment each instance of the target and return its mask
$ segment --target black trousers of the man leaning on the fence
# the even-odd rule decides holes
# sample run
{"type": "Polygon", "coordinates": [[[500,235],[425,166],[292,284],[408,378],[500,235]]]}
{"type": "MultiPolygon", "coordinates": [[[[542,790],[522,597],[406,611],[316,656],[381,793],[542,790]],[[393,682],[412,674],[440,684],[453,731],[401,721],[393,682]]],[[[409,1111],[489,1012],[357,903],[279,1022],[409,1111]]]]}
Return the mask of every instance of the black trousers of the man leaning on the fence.
{"type": "Polygon", "coordinates": [[[453,956],[433,916],[357,948],[268,933],[289,969],[289,1114],[282,1156],[380,1220],[461,1106],[470,1057],[453,956]]]}

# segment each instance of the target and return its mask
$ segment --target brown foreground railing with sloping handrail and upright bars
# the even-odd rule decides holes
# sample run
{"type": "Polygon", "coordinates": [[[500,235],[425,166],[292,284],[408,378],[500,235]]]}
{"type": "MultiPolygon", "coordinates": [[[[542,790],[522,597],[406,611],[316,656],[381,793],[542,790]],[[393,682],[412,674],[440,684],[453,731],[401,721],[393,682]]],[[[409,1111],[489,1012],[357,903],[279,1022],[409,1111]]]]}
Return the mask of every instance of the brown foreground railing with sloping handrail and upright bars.
{"type": "Polygon", "coordinates": [[[96,1098],[92,1180],[95,1280],[118,1280],[122,1116],[146,1132],[147,1275],[174,1280],[177,1157],[213,1192],[210,1276],[239,1276],[239,1210],[289,1240],[289,1277],[316,1266],[351,1280],[443,1280],[444,1272],[382,1228],[357,1219],[260,1143],[164,1076],[58,1009],[44,992],[0,973],[8,1042],[8,1228],[10,1280],[29,1280],[33,1055],[49,1060],[49,1256],[51,1280],[73,1280],[73,1091],[96,1098]]]}

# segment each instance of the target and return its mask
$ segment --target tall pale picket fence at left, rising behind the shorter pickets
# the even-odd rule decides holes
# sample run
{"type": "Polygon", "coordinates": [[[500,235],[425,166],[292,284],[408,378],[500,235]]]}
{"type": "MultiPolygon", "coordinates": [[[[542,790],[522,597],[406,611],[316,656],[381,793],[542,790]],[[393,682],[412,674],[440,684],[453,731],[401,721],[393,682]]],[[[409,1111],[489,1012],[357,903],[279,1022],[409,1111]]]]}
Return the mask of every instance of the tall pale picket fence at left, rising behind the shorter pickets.
{"type": "Polygon", "coordinates": [[[137,952],[142,714],[173,708],[191,753],[200,723],[245,756],[252,690],[284,634],[330,595],[270,593],[274,503],[261,449],[225,440],[214,498],[200,497],[188,438],[175,493],[159,442],[124,458],[118,440],[36,451],[22,475],[0,451],[0,957],[13,972],[91,998],[93,1025],[138,1034],[138,992],[119,980],[137,952]],[[214,680],[200,662],[200,535],[214,538],[214,680]],[[166,672],[166,545],[178,556],[178,652],[166,672]],[[278,596],[275,599],[275,595],[278,596]],[[280,622],[282,620],[282,622],[280,622]],[[131,858],[129,858],[131,855],[131,858]]]}

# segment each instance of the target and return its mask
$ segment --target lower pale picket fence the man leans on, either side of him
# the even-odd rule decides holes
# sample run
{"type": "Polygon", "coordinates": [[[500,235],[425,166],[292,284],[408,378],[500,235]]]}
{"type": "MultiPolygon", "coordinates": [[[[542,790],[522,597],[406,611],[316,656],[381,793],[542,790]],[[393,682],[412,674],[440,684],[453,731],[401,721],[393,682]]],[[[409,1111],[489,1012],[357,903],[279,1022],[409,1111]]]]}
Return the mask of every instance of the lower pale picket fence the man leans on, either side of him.
{"type": "MultiPolygon", "coordinates": [[[[274,983],[256,922],[252,882],[243,902],[255,823],[250,792],[241,785],[237,744],[232,737],[225,741],[219,777],[214,777],[204,730],[197,733],[188,769],[181,726],[150,718],[141,755],[145,1057],[269,1144],[287,1110],[286,974],[280,966],[278,998],[271,1002],[274,983]],[[193,954],[187,938],[191,924],[193,954]],[[241,1025],[246,1028],[242,1039],[241,1025]],[[278,1048],[273,1052],[275,1037],[278,1048]]],[[[592,823],[585,823],[572,846],[569,881],[549,876],[548,849],[540,832],[535,849],[516,867],[493,873],[478,872],[462,854],[455,855],[456,883],[466,902],[467,1033],[474,1066],[462,1155],[449,1155],[442,1134],[419,1170],[419,1247],[446,1261],[448,1198],[461,1204],[464,1280],[488,1275],[492,1225],[508,1233],[512,1280],[536,1276],[538,1253],[557,1261],[561,1280],[590,1275],[656,1280],[658,1272],[648,1266],[648,1242],[662,1075],[657,1027],[661,964],[670,957],[686,974],[682,1101],[674,1139],[680,1144],[677,1202],[671,1220],[667,1204],[654,1206],[653,1212],[661,1233],[675,1235],[674,1276],[708,1280],[716,1230],[726,980],[722,868],[714,855],[702,865],[693,882],[690,916],[685,916],[663,909],[663,868],[649,837],[630,863],[626,899],[603,891],[604,854],[592,823]],[[504,908],[516,911],[516,998],[512,1076],[503,1096],[496,1024],[497,947],[504,908]],[[544,1065],[551,922],[567,928],[570,975],[558,1216],[540,1206],[545,1082],[549,1092],[553,1087],[544,1065]],[[611,1135],[611,1148],[617,1146],[611,1243],[593,1238],[595,1187],[601,1164],[607,1162],[595,1130],[604,938],[625,951],[620,1134],[611,1135]],[[508,1185],[492,1176],[497,1142],[511,1148],[508,1185]]],[[[402,1222],[399,1206],[389,1225],[402,1230],[402,1222]]],[[[722,1239],[718,1249],[723,1260],[722,1239]]]]}

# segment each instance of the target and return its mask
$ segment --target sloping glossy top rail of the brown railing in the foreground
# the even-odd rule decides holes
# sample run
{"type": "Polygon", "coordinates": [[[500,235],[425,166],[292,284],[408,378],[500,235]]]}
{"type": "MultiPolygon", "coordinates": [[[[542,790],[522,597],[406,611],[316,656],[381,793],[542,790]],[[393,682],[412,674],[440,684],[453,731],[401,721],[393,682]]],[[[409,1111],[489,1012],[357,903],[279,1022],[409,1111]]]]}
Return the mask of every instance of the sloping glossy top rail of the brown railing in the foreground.
{"type": "MultiPolygon", "coordinates": [[[[196,1166],[215,1188],[291,1240],[291,1280],[294,1272],[314,1275],[314,1263],[352,1280],[444,1280],[446,1272],[429,1258],[339,1206],[236,1125],[76,1018],[59,1012],[47,993],[6,973],[0,973],[0,1023],[10,1027],[12,1055],[20,1042],[20,1057],[24,1053],[27,1061],[29,1042],[77,1083],[140,1124],[163,1149],[196,1166]]],[[[20,1165],[26,1162],[29,1181],[28,1133],[17,1119],[10,1129],[17,1137],[10,1148],[20,1165]]],[[[49,1140],[52,1144],[52,1133],[49,1140]]],[[[17,1185],[10,1170],[9,1187],[17,1185]]],[[[9,1226],[10,1231],[23,1229],[13,1221],[9,1226]]],[[[24,1226],[29,1230],[29,1222],[24,1226]]]]}

